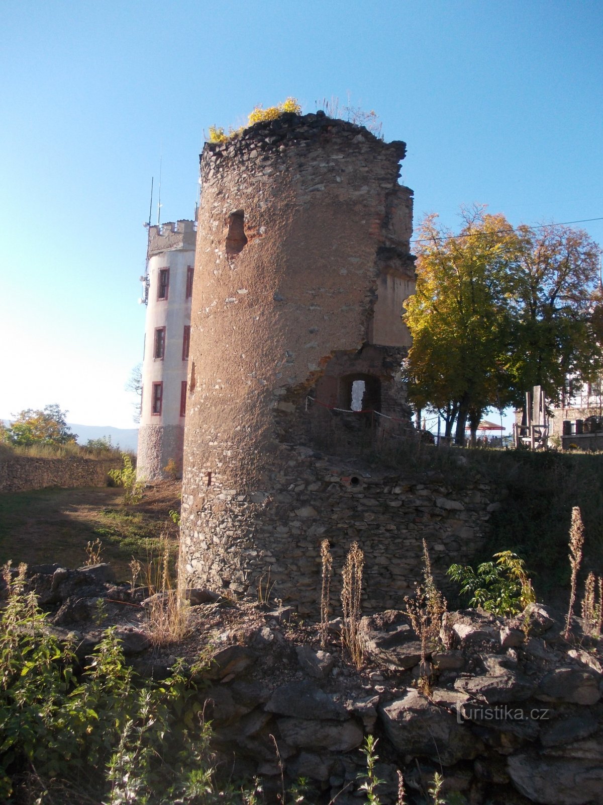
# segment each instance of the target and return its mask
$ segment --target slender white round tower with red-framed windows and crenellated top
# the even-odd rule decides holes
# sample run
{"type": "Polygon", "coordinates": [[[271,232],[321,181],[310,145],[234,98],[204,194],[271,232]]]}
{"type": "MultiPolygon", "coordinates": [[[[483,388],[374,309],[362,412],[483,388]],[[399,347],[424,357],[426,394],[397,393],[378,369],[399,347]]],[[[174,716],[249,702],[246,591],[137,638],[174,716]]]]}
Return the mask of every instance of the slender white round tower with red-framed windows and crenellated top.
{"type": "Polygon", "coordinates": [[[149,227],[137,456],[146,481],[165,477],[170,459],[182,471],[195,238],[195,221],[149,227]]]}

